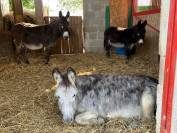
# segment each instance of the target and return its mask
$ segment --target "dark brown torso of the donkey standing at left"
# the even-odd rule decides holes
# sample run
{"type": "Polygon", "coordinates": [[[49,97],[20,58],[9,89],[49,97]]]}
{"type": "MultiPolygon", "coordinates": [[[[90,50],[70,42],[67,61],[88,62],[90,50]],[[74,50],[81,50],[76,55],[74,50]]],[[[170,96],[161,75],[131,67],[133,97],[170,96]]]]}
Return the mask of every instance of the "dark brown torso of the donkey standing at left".
{"type": "Polygon", "coordinates": [[[24,45],[46,45],[54,42],[58,37],[52,25],[35,25],[31,27],[20,23],[14,25],[12,34],[18,45],[21,42],[23,42],[24,45]]]}

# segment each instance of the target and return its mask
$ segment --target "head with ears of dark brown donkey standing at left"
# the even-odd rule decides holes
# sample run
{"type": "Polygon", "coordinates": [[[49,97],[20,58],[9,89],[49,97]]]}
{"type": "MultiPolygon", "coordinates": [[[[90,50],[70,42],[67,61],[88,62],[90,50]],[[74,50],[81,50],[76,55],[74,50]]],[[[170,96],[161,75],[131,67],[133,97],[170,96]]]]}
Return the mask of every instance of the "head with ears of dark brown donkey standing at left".
{"type": "Polygon", "coordinates": [[[70,13],[67,12],[66,16],[62,15],[62,12],[59,12],[59,20],[61,24],[61,32],[64,39],[69,39],[69,17],[70,13]]]}

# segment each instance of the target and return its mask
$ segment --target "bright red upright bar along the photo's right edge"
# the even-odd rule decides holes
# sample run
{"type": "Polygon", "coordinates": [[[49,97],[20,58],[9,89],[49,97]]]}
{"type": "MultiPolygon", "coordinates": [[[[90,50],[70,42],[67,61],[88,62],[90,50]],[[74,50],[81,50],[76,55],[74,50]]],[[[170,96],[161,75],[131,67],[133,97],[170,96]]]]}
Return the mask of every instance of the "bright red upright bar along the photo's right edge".
{"type": "Polygon", "coordinates": [[[171,132],[172,101],[175,80],[175,65],[177,59],[177,1],[170,1],[168,23],[167,51],[164,72],[164,88],[161,114],[161,133],[171,132]]]}

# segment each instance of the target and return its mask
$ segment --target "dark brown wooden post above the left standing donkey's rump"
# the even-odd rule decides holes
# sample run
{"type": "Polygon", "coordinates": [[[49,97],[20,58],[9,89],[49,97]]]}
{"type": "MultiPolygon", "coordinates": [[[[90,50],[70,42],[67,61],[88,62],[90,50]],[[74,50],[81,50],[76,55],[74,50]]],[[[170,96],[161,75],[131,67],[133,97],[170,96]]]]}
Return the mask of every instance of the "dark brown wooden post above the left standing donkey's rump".
{"type": "Polygon", "coordinates": [[[23,21],[23,8],[21,0],[12,0],[15,23],[23,21]]]}

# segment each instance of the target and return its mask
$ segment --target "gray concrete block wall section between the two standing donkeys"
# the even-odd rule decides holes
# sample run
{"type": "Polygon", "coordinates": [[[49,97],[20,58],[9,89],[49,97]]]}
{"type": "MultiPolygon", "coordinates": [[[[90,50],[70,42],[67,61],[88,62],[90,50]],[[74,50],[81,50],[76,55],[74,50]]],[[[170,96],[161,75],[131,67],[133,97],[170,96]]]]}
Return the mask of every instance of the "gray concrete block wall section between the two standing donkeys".
{"type": "Polygon", "coordinates": [[[105,7],[109,0],[83,0],[84,47],[86,52],[104,52],[105,7]]]}

